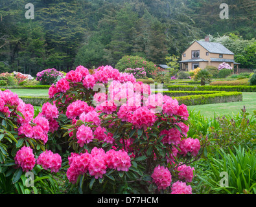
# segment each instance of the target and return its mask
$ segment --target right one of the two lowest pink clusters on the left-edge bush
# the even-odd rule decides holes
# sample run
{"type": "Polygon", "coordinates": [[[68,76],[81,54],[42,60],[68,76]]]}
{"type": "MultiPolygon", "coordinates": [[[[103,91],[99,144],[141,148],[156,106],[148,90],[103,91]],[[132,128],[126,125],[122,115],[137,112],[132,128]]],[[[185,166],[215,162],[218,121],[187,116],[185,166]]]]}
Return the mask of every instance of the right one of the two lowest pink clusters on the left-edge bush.
{"type": "Polygon", "coordinates": [[[62,167],[62,157],[58,153],[46,150],[38,156],[36,163],[40,164],[43,169],[51,169],[51,172],[57,173],[62,167]]]}

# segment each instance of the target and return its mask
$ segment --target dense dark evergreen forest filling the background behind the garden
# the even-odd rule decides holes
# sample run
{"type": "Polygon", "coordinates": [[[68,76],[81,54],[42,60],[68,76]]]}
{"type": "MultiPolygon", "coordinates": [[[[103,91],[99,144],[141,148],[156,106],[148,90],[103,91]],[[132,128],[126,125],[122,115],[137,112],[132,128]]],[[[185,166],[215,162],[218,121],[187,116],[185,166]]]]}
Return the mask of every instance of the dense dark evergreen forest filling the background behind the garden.
{"type": "Polygon", "coordinates": [[[0,71],[35,76],[43,69],[67,72],[80,64],[114,67],[124,55],[165,64],[166,56],[180,56],[191,41],[208,34],[255,38],[256,1],[226,0],[229,19],[220,18],[221,3],[0,0],[0,71]],[[34,5],[34,19],[25,18],[27,3],[34,5]]]}

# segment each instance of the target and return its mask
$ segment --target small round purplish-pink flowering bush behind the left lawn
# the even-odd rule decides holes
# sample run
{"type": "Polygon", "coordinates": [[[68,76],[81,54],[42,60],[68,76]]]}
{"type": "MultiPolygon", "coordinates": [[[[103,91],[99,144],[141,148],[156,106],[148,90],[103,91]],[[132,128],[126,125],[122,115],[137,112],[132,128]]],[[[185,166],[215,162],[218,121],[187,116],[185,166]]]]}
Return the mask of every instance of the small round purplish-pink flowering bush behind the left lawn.
{"type": "Polygon", "coordinates": [[[42,85],[52,85],[63,76],[63,73],[56,71],[56,69],[46,69],[36,74],[36,80],[40,81],[42,85]]]}

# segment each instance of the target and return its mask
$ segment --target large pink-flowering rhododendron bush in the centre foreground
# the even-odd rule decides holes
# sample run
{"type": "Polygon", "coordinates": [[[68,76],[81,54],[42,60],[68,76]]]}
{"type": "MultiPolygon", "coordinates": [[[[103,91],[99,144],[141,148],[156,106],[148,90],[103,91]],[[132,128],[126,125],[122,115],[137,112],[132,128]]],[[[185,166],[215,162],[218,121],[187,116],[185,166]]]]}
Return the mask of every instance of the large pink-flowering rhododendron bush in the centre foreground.
{"type": "MultiPolygon", "coordinates": [[[[169,193],[172,176],[192,181],[194,169],[180,163],[200,156],[201,145],[187,137],[187,106],[153,93],[133,74],[110,65],[90,70],[80,65],[51,85],[49,102],[58,109],[54,120],[60,126],[51,132],[61,134],[57,142],[72,149],[67,179],[72,184],[80,180],[80,193],[81,184],[92,189],[95,179],[99,185],[106,180],[121,182],[124,177],[130,183],[144,180],[147,192],[169,193]]],[[[182,183],[173,189],[189,192],[182,183]]]]}

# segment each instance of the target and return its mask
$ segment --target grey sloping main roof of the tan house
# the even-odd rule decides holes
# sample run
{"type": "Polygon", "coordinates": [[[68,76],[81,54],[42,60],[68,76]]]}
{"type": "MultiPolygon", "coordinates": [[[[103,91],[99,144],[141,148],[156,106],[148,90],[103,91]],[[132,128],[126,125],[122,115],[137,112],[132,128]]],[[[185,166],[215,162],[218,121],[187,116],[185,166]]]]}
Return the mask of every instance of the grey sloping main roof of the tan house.
{"type": "Polygon", "coordinates": [[[231,52],[229,49],[227,49],[226,47],[224,47],[224,45],[220,43],[213,43],[209,41],[196,41],[196,42],[211,53],[234,54],[233,52],[231,52]]]}

